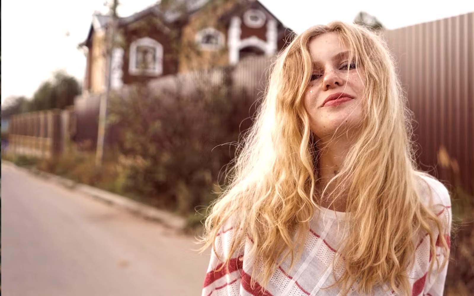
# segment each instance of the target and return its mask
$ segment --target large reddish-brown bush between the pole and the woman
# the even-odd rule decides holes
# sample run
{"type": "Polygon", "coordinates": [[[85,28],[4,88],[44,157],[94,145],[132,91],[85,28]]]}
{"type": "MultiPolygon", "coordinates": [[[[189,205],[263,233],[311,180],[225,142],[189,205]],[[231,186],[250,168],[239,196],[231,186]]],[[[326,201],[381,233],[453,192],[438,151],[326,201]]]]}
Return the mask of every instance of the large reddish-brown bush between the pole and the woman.
{"type": "Polygon", "coordinates": [[[221,144],[238,139],[256,107],[254,98],[224,81],[188,93],[180,81],[172,90],[136,85],[110,100],[109,124],[118,126],[126,190],[183,215],[216,197],[211,192],[219,172],[234,156],[231,145],[221,144]]]}

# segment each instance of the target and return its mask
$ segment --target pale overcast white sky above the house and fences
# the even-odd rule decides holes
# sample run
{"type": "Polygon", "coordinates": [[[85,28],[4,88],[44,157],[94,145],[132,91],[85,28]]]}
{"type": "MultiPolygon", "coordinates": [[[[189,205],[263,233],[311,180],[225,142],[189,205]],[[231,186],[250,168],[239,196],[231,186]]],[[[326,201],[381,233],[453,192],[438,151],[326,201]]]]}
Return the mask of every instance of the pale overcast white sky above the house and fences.
{"type": "MultiPolygon", "coordinates": [[[[92,13],[107,13],[105,0],[1,2],[1,102],[11,95],[32,97],[41,82],[64,70],[81,83],[86,59],[77,45],[85,40],[92,13]]],[[[118,14],[129,16],[153,0],[119,0],[118,14]]],[[[359,11],[378,18],[388,29],[474,11],[474,1],[327,1],[261,0],[283,24],[296,32],[339,19],[352,22],[359,11]],[[291,4],[288,4],[288,3],[291,4]]]]}

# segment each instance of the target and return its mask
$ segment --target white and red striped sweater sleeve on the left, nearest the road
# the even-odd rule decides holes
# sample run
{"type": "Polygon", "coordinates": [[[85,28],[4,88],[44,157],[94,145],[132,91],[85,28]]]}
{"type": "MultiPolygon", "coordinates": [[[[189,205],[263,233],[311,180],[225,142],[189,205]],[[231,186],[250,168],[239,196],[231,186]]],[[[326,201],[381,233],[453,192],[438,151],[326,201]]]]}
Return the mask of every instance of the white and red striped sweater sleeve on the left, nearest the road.
{"type": "Polygon", "coordinates": [[[230,224],[225,225],[219,230],[215,240],[215,249],[211,249],[209,267],[204,278],[201,293],[202,296],[239,295],[243,255],[238,252],[234,253],[228,265],[222,267],[230,248],[230,238],[233,231],[234,229],[230,224]]]}

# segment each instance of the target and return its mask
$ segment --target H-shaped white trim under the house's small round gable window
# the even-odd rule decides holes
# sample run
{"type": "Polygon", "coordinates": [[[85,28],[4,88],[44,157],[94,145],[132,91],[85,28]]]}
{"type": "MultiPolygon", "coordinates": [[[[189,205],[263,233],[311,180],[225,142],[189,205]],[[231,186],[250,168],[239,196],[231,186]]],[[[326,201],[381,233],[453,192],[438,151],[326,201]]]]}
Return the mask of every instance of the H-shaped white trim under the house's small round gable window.
{"type": "Polygon", "coordinates": [[[239,51],[247,46],[255,46],[260,48],[265,55],[273,55],[278,49],[277,38],[277,22],[275,19],[268,19],[266,39],[264,40],[250,36],[245,39],[240,39],[241,36],[241,21],[238,17],[232,17],[230,20],[230,27],[228,31],[228,48],[229,48],[229,63],[236,64],[239,60],[239,51]]]}

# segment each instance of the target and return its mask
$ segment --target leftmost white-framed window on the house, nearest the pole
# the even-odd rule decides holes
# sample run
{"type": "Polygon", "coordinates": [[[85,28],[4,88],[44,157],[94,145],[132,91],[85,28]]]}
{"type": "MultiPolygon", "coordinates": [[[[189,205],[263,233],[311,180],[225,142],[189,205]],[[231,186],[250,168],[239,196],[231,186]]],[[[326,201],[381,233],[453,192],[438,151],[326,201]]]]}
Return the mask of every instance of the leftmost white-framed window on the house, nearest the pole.
{"type": "Polygon", "coordinates": [[[163,46],[144,37],[130,45],[128,72],[132,75],[161,75],[163,73],[163,46]]]}

